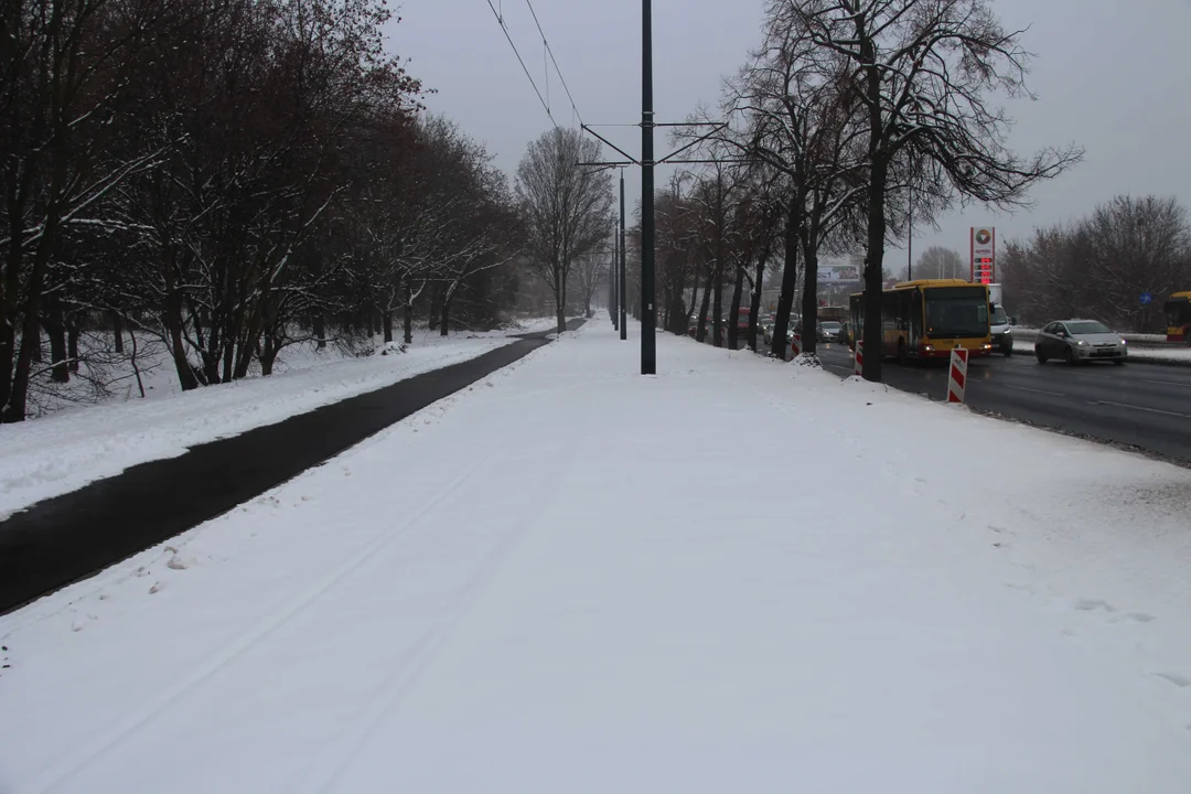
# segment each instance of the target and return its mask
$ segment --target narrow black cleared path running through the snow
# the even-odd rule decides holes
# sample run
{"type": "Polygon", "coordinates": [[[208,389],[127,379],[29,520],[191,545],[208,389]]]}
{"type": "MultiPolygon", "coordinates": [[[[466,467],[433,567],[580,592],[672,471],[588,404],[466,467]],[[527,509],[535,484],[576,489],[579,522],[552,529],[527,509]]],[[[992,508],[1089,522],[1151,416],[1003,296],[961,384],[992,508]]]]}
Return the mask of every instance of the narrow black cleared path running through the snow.
{"type": "MultiPolygon", "coordinates": [[[[584,320],[572,320],[576,329],[584,320]]],[[[151,461],[0,521],[0,614],[241,505],[548,344],[520,338],[232,438],[151,461]]]]}

